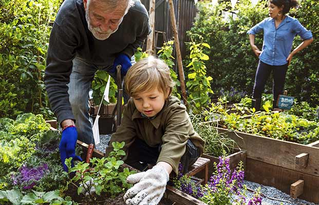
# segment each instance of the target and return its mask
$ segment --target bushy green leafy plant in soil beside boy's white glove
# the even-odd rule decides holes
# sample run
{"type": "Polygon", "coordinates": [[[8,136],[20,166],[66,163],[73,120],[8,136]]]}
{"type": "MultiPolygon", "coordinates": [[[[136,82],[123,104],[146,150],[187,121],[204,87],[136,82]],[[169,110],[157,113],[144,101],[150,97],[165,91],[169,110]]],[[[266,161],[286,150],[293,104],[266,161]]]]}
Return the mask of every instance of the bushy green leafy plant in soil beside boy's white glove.
{"type": "Polygon", "coordinates": [[[71,158],[67,159],[65,163],[68,167],[68,173],[75,172],[76,175],[69,179],[66,189],[71,183],[77,187],[79,195],[84,191],[91,200],[94,200],[95,196],[90,193],[92,188],[95,189],[97,195],[104,193],[110,197],[130,188],[132,185],[126,182],[126,178],[135,172],[129,171],[128,168],[124,168],[123,172],[119,170],[124,163],[120,160],[122,156],[125,156],[125,152],[121,150],[124,147],[124,142],[113,142],[112,146],[114,151],[110,152],[108,157],[92,158],[90,160],[91,167],[89,163],[79,162],[71,168],[71,158]]]}

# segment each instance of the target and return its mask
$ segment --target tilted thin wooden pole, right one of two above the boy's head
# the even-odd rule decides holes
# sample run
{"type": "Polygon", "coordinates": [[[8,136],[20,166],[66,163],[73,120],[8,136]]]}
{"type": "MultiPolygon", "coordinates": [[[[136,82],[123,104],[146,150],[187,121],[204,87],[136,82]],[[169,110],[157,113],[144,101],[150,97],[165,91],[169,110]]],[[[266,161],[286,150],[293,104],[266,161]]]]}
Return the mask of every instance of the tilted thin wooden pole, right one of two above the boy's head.
{"type": "Polygon", "coordinates": [[[178,64],[178,74],[179,74],[179,80],[180,80],[180,88],[182,90],[182,98],[183,98],[183,101],[184,101],[184,105],[187,106],[184,70],[183,70],[183,64],[182,64],[182,56],[181,56],[180,47],[179,47],[179,39],[178,39],[178,32],[177,32],[177,27],[176,27],[176,19],[175,19],[175,11],[174,11],[173,0],[168,0],[168,3],[170,4],[171,24],[172,24],[173,32],[174,32],[174,42],[175,42],[176,55],[177,55],[177,64],[178,64]]]}

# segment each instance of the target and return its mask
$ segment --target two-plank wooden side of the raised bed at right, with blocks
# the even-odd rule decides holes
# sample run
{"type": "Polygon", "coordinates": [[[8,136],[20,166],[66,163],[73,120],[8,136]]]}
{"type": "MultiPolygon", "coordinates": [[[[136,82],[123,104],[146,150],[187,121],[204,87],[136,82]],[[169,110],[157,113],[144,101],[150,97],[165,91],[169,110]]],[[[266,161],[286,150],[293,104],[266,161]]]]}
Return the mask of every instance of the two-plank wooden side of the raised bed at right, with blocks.
{"type": "Polygon", "coordinates": [[[319,141],[310,145],[217,128],[246,151],[245,177],[319,203],[319,141]],[[302,181],[299,181],[302,180],[302,181]]]}

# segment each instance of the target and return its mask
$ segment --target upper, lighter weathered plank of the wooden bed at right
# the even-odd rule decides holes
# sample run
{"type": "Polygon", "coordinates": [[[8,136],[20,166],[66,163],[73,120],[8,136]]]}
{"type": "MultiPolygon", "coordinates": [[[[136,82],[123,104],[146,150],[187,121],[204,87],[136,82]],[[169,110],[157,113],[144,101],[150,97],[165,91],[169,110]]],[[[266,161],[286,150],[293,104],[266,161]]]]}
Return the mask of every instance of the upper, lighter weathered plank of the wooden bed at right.
{"type": "Polygon", "coordinates": [[[246,150],[247,158],[319,176],[319,148],[222,128],[217,128],[217,130],[219,133],[226,133],[237,142],[240,148],[246,150]],[[295,168],[295,156],[302,153],[309,154],[308,166],[306,168],[295,168]]]}

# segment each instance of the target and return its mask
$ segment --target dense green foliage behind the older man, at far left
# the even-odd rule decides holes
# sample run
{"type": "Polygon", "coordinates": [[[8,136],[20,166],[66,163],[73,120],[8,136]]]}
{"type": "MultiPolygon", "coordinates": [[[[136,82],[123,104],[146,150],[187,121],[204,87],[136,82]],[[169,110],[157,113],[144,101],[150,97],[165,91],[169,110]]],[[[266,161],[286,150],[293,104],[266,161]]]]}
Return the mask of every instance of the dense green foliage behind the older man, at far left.
{"type": "Polygon", "coordinates": [[[0,0],[0,117],[53,116],[44,69],[51,26],[62,0],[0,0]]]}

